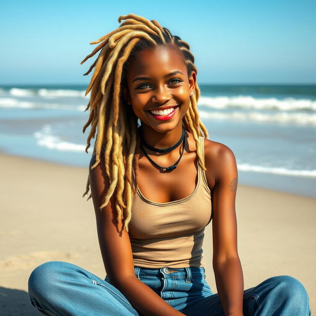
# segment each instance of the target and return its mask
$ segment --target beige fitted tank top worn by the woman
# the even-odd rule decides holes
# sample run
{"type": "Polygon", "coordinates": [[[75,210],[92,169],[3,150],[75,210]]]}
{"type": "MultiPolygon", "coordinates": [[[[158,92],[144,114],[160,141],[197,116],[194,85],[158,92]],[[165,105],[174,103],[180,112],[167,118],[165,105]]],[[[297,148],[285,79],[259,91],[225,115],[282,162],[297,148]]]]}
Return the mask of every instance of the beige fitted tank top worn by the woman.
{"type": "MultiPolygon", "coordinates": [[[[199,136],[204,159],[204,138],[199,136]]],[[[134,266],[204,267],[204,229],[212,219],[211,192],[197,163],[197,186],[188,196],[159,203],[133,196],[129,237],[134,266]]]]}

